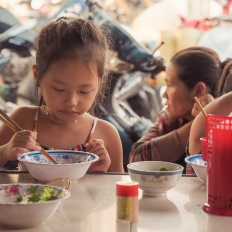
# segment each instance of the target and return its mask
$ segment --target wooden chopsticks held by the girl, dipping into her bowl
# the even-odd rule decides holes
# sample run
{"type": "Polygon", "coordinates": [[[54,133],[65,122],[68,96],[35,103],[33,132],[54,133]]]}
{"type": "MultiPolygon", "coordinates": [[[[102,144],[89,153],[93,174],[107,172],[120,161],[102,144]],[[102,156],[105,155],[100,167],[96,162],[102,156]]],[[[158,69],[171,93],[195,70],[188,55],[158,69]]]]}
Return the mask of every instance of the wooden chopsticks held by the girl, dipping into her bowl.
{"type": "MultiPolygon", "coordinates": [[[[13,119],[11,119],[3,110],[0,109],[0,121],[2,121],[6,126],[8,126],[12,131],[23,131],[13,119]]],[[[41,153],[47,157],[52,163],[57,164],[58,162],[53,159],[38,143],[37,145],[41,148],[41,153]]]]}

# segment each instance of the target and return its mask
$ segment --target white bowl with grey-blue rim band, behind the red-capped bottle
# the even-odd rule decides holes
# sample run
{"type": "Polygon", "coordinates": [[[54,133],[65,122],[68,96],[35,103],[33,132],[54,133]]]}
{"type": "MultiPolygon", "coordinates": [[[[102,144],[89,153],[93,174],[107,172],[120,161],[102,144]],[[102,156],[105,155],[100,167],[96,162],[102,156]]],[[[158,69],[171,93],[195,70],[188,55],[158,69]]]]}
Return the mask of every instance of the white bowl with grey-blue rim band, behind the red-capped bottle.
{"type": "Polygon", "coordinates": [[[184,168],[181,165],[163,161],[140,161],[127,165],[132,181],[139,182],[139,188],[146,196],[163,196],[175,187],[184,168]],[[168,171],[160,171],[167,167],[168,171]]]}

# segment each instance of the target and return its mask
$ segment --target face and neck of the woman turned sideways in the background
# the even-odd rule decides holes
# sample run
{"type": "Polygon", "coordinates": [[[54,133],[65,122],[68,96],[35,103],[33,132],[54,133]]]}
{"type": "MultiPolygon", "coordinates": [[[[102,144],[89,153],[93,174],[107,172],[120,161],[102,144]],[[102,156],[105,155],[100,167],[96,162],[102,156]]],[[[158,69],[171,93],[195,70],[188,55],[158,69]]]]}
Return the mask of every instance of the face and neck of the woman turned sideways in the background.
{"type": "Polygon", "coordinates": [[[193,90],[179,80],[178,69],[170,63],[166,68],[167,88],[163,97],[167,99],[167,113],[172,118],[182,118],[191,120],[193,118],[191,110],[196,96],[193,90]]]}

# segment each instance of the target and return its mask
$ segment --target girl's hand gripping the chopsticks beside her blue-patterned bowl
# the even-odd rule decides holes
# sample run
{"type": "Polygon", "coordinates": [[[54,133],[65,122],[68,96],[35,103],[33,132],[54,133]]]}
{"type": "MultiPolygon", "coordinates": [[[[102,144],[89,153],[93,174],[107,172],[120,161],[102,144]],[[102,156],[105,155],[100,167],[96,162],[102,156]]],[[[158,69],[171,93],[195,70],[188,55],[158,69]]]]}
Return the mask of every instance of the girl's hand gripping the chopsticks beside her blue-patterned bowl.
{"type": "Polygon", "coordinates": [[[7,160],[16,160],[21,153],[40,151],[41,148],[36,145],[37,133],[24,130],[16,132],[7,144],[7,160]]]}

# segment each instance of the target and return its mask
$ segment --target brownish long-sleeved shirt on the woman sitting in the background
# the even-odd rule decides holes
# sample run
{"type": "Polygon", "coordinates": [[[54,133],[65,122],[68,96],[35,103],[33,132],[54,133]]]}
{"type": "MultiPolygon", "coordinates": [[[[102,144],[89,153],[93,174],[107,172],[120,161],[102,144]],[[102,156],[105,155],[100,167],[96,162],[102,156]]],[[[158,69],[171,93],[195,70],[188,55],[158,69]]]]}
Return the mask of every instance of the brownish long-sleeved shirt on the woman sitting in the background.
{"type": "Polygon", "coordinates": [[[130,162],[162,160],[185,167],[185,146],[176,133],[185,123],[187,121],[168,118],[166,111],[160,112],[154,125],[132,146],[130,162]]]}

